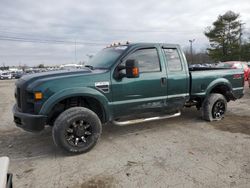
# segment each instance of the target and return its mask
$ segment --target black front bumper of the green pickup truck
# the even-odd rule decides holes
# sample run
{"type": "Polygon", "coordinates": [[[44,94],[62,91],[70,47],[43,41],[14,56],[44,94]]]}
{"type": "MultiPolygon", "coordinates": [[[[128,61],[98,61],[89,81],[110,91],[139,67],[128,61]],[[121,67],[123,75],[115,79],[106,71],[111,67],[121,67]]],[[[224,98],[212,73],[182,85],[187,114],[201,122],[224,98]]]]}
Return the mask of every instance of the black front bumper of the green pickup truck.
{"type": "Polygon", "coordinates": [[[43,130],[46,125],[47,116],[22,113],[18,111],[16,105],[14,105],[12,112],[14,114],[16,126],[26,131],[38,132],[43,130]]]}

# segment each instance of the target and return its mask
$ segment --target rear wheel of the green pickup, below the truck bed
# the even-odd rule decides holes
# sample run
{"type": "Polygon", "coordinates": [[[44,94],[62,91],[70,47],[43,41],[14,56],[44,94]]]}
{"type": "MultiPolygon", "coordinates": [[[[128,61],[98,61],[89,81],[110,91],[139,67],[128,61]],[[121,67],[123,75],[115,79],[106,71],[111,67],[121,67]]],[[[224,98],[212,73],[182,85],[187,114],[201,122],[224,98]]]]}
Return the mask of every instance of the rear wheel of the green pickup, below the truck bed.
{"type": "Polygon", "coordinates": [[[227,100],[222,94],[210,94],[202,105],[202,117],[207,121],[218,121],[224,118],[227,111],[227,100]]]}

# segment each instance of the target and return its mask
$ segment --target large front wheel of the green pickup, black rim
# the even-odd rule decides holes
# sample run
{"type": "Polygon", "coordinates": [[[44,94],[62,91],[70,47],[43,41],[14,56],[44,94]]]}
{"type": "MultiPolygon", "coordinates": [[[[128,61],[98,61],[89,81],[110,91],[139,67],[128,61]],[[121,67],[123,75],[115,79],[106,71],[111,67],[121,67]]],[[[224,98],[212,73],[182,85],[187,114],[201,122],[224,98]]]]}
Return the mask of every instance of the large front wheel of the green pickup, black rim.
{"type": "Polygon", "coordinates": [[[84,107],[73,107],[62,112],[55,120],[52,136],[54,143],[69,153],[86,153],[92,149],[102,132],[98,116],[84,107]]]}

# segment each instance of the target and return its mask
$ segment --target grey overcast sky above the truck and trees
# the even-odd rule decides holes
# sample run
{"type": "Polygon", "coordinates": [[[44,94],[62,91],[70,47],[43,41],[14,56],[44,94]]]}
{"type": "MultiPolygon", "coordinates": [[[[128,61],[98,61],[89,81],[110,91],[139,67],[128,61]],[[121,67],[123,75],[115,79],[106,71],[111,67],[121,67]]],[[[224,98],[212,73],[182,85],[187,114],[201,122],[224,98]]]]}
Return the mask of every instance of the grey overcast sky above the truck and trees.
{"type": "Polygon", "coordinates": [[[75,52],[78,62],[114,41],[187,47],[196,39],[194,48],[205,49],[204,29],[228,10],[250,33],[249,0],[1,0],[0,7],[0,65],[60,65],[75,62],[75,52]]]}

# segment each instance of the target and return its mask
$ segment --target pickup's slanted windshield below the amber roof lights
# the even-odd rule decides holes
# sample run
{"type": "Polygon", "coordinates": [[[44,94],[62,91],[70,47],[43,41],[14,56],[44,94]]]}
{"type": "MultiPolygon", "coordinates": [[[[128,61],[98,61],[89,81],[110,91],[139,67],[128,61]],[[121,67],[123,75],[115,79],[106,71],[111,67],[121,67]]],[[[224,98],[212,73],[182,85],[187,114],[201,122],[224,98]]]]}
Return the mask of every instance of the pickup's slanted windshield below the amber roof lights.
{"type": "Polygon", "coordinates": [[[127,46],[105,48],[91,58],[87,66],[93,68],[109,68],[126,49],[127,46]]]}

